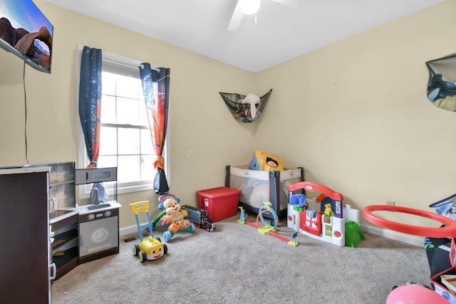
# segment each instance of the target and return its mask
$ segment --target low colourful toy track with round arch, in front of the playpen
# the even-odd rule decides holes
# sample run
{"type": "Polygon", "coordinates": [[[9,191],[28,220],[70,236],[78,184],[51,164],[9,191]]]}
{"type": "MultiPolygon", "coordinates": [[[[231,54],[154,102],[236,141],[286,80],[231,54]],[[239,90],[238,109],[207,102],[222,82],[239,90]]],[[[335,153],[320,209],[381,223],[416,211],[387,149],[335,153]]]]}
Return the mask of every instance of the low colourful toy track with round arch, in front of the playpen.
{"type": "Polygon", "coordinates": [[[289,243],[291,246],[297,246],[298,243],[296,243],[296,235],[297,233],[294,232],[294,234],[291,235],[291,240],[286,239],[286,237],[281,236],[280,234],[277,234],[277,223],[279,222],[279,219],[277,219],[277,214],[274,211],[274,209],[271,208],[271,202],[270,201],[263,201],[264,206],[261,206],[258,209],[258,216],[257,216],[257,223],[251,223],[245,219],[245,211],[244,208],[239,207],[241,210],[241,216],[237,220],[238,223],[240,224],[248,224],[250,226],[253,226],[258,229],[259,234],[264,234],[264,235],[270,235],[270,236],[275,236],[277,239],[281,239],[282,241],[286,241],[289,243]],[[270,214],[272,216],[271,220],[271,225],[266,224],[266,221],[264,221],[264,216],[263,214],[270,214]]]}

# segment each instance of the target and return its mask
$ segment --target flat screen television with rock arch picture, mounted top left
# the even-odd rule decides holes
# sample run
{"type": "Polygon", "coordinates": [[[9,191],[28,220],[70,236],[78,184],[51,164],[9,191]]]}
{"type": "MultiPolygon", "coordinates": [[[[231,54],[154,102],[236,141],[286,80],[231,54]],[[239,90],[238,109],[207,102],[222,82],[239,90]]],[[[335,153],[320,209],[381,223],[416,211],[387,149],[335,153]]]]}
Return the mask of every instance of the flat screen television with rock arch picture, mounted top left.
{"type": "Polygon", "coordinates": [[[51,73],[53,25],[31,0],[0,0],[0,47],[51,73]]]}

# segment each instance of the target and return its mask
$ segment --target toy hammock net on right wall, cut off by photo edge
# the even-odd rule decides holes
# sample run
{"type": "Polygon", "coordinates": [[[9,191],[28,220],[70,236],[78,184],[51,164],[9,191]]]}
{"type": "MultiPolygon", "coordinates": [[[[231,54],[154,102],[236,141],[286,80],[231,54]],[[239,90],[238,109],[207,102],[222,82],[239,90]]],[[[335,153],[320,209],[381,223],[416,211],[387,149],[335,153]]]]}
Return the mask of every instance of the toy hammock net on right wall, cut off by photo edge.
{"type": "Polygon", "coordinates": [[[456,53],[427,61],[427,99],[437,108],[456,111],[456,53]]]}

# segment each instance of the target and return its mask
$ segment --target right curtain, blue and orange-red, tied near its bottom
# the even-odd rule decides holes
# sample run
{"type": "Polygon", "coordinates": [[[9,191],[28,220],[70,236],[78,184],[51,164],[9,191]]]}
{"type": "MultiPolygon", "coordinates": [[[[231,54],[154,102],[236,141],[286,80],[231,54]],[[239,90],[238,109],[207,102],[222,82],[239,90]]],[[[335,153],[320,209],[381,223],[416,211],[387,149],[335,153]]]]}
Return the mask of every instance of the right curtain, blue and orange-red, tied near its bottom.
{"type": "Polygon", "coordinates": [[[170,96],[170,69],[150,68],[149,63],[140,65],[142,93],[144,93],[147,117],[149,118],[150,137],[155,147],[154,167],[157,170],[154,179],[154,189],[157,194],[167,194],[170,191],[165,174],[165,159],[162,157],[165,145],[168,121],[168,105],[170,96]]]}

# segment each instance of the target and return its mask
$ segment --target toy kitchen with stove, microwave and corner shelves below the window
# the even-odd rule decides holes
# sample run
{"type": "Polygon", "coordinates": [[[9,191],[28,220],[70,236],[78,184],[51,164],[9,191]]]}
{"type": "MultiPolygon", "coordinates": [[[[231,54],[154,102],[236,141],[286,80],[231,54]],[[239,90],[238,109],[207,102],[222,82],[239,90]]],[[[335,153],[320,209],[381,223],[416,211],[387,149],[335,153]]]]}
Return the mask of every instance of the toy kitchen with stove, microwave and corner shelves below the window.
{"type": "Polygon", "coordinates": [[[49,223],[56,279],[78,264],[119,252],[117,168],[75,169],[74,162],[48,164],[49,223]],[[89,197],[88,204],[76,204],[89,197]]]}

